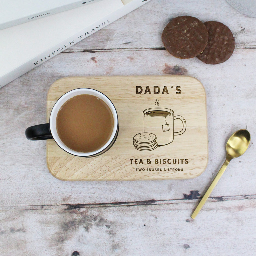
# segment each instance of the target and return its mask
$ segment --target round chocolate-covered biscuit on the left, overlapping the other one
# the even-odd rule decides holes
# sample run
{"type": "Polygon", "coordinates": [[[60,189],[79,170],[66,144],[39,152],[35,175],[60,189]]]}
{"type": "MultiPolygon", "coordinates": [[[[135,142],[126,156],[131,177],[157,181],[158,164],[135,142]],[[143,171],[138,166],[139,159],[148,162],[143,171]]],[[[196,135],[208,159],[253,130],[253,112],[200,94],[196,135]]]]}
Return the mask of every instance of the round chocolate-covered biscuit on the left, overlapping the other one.
{"type": "Polygon", "coordinates": [[[172,19],[164,28],[162,40],[170,54],[180,59],[189,59],[204,50],[208,32],[199,19],[179,16],[172,19]]]}

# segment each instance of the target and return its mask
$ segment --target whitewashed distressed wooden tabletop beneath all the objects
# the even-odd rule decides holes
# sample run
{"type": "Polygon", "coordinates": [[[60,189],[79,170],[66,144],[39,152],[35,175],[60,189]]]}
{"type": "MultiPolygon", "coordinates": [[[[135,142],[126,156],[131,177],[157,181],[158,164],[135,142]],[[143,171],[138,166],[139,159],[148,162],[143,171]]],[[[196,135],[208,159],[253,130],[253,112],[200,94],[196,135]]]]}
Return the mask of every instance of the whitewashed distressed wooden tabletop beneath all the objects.
{"type": "Polygon", "coordinates": [[[152,0],[0,89],[1,255],[255,255],[256,18],[224,0],[152,0]],[[231,58],[206,65],[171,56],[168,21],[191,15],[226,24],[231,58]],[[46,121],[51,84],[66,76],[197,78],[207,94],[209,162],[190,180],[63,182],[46,166],[45,141],[25,138],[46,121]],[[225,160],[238,129],[251,144],[230,162],[195,220],[191,213],[225,160]]]}

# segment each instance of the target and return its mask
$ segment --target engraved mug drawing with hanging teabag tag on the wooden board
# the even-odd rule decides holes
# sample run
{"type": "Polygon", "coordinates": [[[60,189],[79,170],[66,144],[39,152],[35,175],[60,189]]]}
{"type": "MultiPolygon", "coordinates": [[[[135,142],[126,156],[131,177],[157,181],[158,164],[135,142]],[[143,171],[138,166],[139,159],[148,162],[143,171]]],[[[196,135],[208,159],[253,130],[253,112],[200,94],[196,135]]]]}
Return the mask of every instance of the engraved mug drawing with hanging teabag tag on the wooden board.
{"type": "Polygon", "coordinates": [[[186,121],[181,115],[174,116],[174,112],[167,108],[150,108],[143,111],[143,132],[156,135],[158,146],[163,146],[173,141],[174,135],[183,134],[186,131],[186,121]],[[183,129],[174,132],[174,120],[180,119],[183,129]]]}

